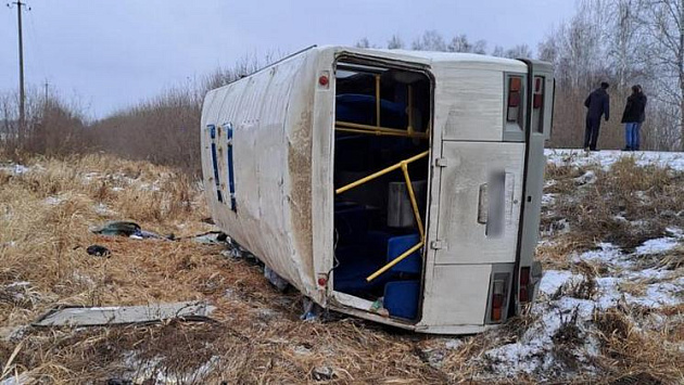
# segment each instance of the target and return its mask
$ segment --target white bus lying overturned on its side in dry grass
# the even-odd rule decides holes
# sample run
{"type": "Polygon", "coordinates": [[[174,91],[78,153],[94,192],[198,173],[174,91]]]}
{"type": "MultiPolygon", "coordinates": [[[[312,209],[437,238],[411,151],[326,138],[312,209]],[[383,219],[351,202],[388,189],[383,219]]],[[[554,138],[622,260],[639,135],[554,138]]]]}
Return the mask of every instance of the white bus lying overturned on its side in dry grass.
{"type": "Polygon", "coordinates": [[[210,91],[216,223],[318,305],[474,333],[533,299],[547,63],[313,47],[210,91]]]}

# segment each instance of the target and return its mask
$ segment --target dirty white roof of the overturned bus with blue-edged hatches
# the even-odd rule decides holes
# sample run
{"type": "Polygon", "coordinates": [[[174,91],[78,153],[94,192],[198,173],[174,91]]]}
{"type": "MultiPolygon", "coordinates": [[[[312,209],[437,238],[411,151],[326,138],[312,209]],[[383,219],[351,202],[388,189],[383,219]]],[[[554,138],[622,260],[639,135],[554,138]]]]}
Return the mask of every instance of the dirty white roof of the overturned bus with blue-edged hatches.
{"type": "MultiPolygon", "coordinates": [[[[300,204],[299,200],[308,201],[311,196],[293,197],[289,190],[293,185],[289,175],[291,168],[287,165],[293,156],[292,152],[289,152],[292,146],[301,147],[305,159],[308,161],[311,156],[311,146],[288,132],[291,124],[306,121],[301,119],[303,114],[294,108],[307,103],[299,102],[294,103],[296,104],[294,106],[291,104],[293,98],[301,98],[301,94],[295,92],[296,88],[313,86],[313,78],[306,84],[301,79],[309,54],[292,57],[213,91],[213,97],[205,100],[202,116],[204,127],[210,124],[216,126],[219,159],[217,164],[225,196],[229,196],[229,189],[228,138],[224,127],[230,124],[233,129],[237,210],[231,210],[229,200],[218,202],[215,193],[207,194],[212,217],[232,239],[305,293],[309,291],[308,286],[313,285],[314,281],[313,269],[306,268],[312,264],[311,247],[308,253],[306,247],[301,247],[304,251],[301,253],[297,248],[300,245],[293,239],[295,235],[311,236],[311,230],[302,230],[306,223],[299,220],[299,214],[292,215],[290,210],[293,206],[305,206],[300,204]],[[292,116],[294,118],[291,118],[292,116]],[[305,268],[302,268],[303,266],[305,268]]],[[[211,154],[207,155],[210,138],[204,127],[203,174],[207,191],[215,191],[212,158],[211,154]]],[[[311,119],[307,131],[311,131],[311,119]]],[[[311,174],[308,163],[301,162],[297,172],[311,174]]],[[[307,180],[304,183],[311,185],[307,180]]],[[[311,191],[304,193],[311,195],[311,191]]],[[[308,242],[311,244],[311,239],[308,242]]]]}

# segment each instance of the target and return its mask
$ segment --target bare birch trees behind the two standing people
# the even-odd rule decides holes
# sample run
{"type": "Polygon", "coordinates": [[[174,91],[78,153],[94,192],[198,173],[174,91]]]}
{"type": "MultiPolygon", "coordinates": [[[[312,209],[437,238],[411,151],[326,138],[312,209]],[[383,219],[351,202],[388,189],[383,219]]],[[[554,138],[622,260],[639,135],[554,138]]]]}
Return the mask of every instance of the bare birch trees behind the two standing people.
{"type": "Polygon", "coordinates": [[[552,144],[580,146],[586,94],[611,85],[611,119],[599,146],[624,143],[620,117],[633,85],[648,95],[644,150],[682,150],[684,142],[684,0],[581,0],[575,14],[539,44],[552,62],[556,112],[552,144]],[[603,144],[601,144],[603,142],[603,144]]]}

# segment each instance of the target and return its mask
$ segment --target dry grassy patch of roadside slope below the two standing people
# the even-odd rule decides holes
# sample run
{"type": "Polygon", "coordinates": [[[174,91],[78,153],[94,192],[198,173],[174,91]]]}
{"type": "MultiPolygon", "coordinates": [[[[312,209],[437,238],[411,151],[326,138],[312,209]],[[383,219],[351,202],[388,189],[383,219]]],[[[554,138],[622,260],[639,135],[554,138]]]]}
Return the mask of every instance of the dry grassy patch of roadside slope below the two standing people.
{"type": "Polygon", "coordinates": [[[668,227],[684,226],[681,172],[636,166],[635,158],[626,156],[608,171],[598,166],[548,165],[546,179],[556,181],[545,189],[546,193],[555,194],[556,203],[553,210],[544,210],[542,229],[553,230],[560,220],[566,220],[570,229],[556,234],[553,244],[541,247],[541,258],[547,261],[553,255],[591,249],[598,242],[611,242],[630,251],[664,235],[668,227]],[[583,178],[591,174],[595,179],[585,182],[583,178]]]}

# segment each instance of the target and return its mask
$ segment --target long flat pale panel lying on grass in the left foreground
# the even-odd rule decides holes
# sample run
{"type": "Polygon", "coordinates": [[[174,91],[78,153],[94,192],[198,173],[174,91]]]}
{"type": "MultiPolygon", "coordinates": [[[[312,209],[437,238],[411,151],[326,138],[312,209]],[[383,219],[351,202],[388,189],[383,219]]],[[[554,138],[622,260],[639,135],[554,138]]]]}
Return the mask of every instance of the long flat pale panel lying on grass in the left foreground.
{"type": "Polygon", "coordinates": [[[169,319],[208,321],[214,306],[201,301],[142,306],[61,307],[36,320],[34,326],[103,326],[155,323],[169,319]]]}

